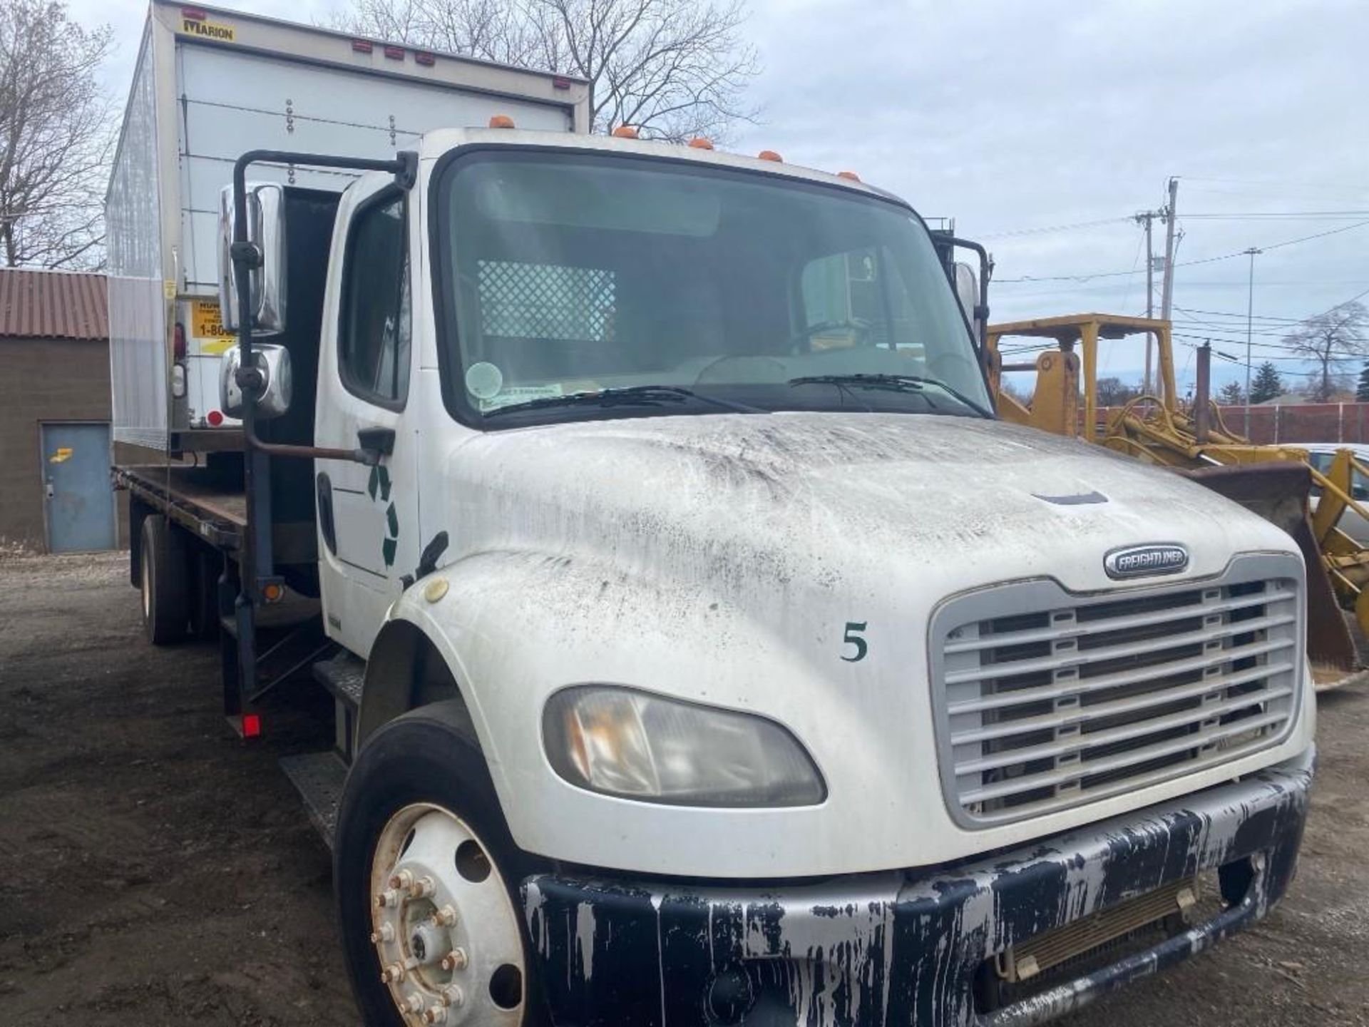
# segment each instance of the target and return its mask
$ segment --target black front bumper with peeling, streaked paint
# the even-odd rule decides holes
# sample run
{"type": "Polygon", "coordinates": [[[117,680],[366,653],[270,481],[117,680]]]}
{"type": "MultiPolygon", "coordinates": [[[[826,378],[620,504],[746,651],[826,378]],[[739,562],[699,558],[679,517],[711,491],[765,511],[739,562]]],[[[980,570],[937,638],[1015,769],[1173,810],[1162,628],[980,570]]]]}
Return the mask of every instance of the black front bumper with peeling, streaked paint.
{"type": "Polygon", "coordinates": [[[524,912],[556,1024],[1024,1027],[1258,920],[1292,879],[1313,756],[939,871],[820,885],[531,878],[524,912]],[[1220,868],[1225,908],[1144,952],[988,1013],[986,959],[1040,931],[1220,868]]]}

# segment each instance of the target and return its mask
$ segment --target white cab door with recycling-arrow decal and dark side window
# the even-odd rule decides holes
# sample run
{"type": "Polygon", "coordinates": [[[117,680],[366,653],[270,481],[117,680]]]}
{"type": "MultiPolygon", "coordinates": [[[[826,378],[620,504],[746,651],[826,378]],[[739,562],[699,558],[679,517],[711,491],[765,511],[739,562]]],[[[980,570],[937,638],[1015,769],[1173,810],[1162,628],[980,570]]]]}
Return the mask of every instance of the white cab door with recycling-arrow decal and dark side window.
{"type": "Polygon", "coordinates": [[[319,446],[389,452],[376,467],[315,461],[327,633],[366,656],[400,578],[418,564],[418,435],[405,418],[413,362],[409,193],[353,186],[338,208],[319,362],[319,446]]]}

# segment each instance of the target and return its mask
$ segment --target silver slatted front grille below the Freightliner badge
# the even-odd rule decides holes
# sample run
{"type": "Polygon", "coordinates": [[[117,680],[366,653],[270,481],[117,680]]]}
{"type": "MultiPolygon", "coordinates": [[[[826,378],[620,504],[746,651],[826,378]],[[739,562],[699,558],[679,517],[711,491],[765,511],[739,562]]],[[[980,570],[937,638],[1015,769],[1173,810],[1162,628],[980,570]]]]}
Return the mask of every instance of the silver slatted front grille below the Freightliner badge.
{"type": "Polygon", "coordinates": [[[1217,581],[1073,596],[1020,582],[934,618],[953,813],[1054,812],[1246,756],[1292,724],[1302,568],[1244,557],[1217,581]]]}

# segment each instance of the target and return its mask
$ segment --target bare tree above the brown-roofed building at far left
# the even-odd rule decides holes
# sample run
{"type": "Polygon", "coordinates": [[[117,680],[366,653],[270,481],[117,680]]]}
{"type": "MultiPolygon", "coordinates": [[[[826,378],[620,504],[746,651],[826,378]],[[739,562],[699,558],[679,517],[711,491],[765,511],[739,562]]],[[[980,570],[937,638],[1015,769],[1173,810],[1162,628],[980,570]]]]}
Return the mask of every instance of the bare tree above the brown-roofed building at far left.
{"type": "Polygon", "coordinates": [[[0,259],[104,263],[104,181],[114,126],[94,79],[110,27],[82,29],[62,3],[0,4],[0,259]]]}

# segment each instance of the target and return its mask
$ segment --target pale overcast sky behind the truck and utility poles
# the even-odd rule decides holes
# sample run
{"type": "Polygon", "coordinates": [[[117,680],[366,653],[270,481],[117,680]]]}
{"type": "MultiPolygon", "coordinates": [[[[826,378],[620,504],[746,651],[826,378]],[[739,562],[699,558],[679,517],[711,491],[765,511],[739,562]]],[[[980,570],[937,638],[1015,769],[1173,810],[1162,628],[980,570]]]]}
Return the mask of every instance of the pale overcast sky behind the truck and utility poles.
{"type": "MultiPolygon", "coordinates": [[[[226,5],[323,21],[340,3],[226,5]]],[[[954,218],[997,259],[994,320],[1143,314],[1143,233],[1131,216],[1162,205],[1170,175],[1183,231],[1176,331],[1243,357],[1247,257],[1184,264],[1247,246],[1266,249],[1255,257],[1257,363],[1279,356],[1258,344],[1277,344],[1292,320],[1369,290],[1364,0],[750,5],[763,119],[739,129],[734,148],[850,168],[928,218],[954,218]],[[1266,216],[1199,216],[1224,214],[1266,216]],[[1317,233],[1335,234],[1279,245],[1317,233]]],[[[122,96],[145,4],[70,8],[114,25],[107,74],[122,96]]],[[[1162,233],[1157,220],[1157,253],[1162,233]]],[[[1157,281],[1157,309],[1158,292],[1157,281]]],[[[1139,342],[1105,342],[1103,366],[1131,377],[1139,353],[1139,342]]],[[[1181,371],[1191,353],[1177,348],[1181,371]]],[[[1214,364],[1217,381],[1235,371],[1214,364]]]]}

